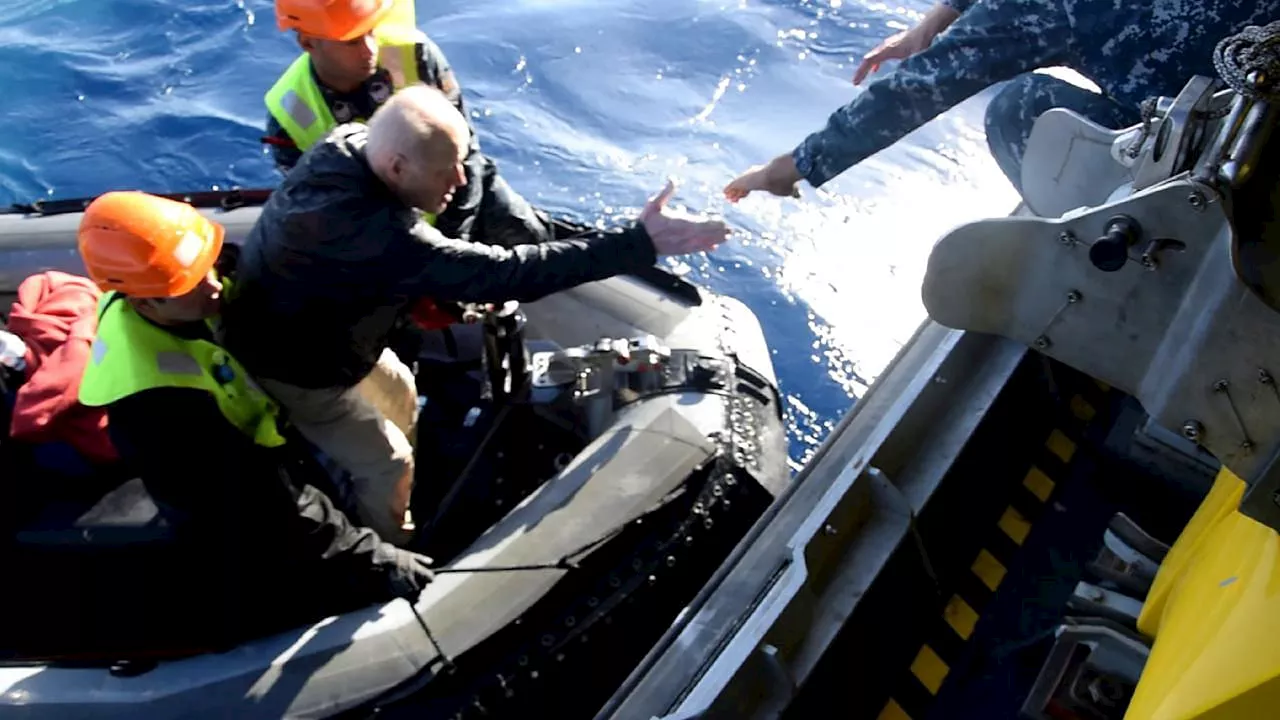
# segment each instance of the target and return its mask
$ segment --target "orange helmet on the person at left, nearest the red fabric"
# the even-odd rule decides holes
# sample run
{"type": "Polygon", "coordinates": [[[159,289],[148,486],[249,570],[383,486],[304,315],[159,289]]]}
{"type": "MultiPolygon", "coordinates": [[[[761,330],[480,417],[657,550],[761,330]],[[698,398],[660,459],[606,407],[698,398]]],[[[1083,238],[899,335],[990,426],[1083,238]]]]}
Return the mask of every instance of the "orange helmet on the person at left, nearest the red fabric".
{"type": "Polygon", "coordinates": [[[79,251],[104,292],[178,297],[209,275],[225,232],[186,202],[113,191],[84,209],[79,251]]]}

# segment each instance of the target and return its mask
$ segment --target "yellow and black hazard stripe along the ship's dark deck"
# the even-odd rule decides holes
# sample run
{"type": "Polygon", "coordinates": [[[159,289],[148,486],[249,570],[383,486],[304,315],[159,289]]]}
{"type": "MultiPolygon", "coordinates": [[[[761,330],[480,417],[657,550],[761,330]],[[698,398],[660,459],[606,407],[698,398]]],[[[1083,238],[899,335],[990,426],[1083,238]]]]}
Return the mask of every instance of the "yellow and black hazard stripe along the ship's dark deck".
{"type": "Polygon", "coordinates": [[[952,665],[973,637],[982,611],[1000,588],[1018,551],[1027,542],[1036,519],[1051,506],[1060,482],[1076,455],[1075,438],[1084,436],[1108,400],[1110,388],[1094,382],[1069,401],[1070,415],[1044,438],[1043,451],[1030,464],[1021,482],[1006,500],[993,528],[988,528],[969,571],[963,573],[941,614],[924,629],[923,642],[910,661],[909,673],[890,689],[877,720],[920,720],[933,706],[952,665]]]}

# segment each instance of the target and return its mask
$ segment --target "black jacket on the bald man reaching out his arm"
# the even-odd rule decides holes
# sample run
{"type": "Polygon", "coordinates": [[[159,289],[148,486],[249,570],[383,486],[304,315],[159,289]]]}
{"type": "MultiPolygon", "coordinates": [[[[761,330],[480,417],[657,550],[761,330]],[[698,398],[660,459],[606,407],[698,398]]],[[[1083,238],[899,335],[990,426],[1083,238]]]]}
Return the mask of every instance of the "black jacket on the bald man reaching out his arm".
{"type": "Polygon", "coordinates": [[[420,297],[532,301],[655,260],[639,224],[513,247],[444,237],[370,169],[366,132],[339,126],[303,154],[244,240],[224,342],[255,377],[352,387],[420,297]]]}

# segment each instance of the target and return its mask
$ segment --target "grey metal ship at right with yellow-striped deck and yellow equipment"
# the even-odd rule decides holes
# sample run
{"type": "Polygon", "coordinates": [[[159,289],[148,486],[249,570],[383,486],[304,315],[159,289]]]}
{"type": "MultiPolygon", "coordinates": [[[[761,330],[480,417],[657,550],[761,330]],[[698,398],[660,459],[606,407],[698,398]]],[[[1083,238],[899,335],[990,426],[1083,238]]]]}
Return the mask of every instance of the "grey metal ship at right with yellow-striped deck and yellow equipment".
{"type": "Polygon", "coordinates": [[[1280,714],[1257,29],[1139,126],[1039,117],[1024,204],[936,243],[929,319],[598,720],[1280,714]]]}

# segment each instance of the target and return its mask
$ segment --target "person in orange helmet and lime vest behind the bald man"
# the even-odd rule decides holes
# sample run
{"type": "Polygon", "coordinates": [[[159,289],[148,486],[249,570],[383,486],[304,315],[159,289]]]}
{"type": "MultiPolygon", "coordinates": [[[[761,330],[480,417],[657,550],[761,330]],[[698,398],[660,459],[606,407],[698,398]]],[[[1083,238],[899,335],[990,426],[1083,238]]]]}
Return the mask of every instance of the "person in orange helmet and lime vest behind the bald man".
{"type": "Polygon", "coordinates": [[[394,0],[275,0],[276,27],[293,31],[303,53],[266,92],[266,137],[282,173],[334,127],[365,122],[393,92],[425,83],[467,119],[466,184],[426,219],[445,237],[489,245],[550,240],[549,220],[498,176],[480,150],[462,90],[444,53],[421,31],[381,26],[394,0]]]}

